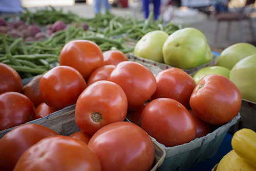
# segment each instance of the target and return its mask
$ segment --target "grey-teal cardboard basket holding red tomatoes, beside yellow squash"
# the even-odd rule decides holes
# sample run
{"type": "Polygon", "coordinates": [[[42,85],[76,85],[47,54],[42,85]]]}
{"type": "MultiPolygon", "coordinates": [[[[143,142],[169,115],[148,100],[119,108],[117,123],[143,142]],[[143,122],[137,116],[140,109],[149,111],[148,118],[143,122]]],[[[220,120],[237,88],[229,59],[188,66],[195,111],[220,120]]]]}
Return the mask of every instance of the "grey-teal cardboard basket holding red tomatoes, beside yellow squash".
{"type": "MultiPolygon", "coordinates": [[[[152,137],[153,141],[159,143],[166,152],[165,159],[158,168],[158,171],[187,171],[195,167],[198,162],[204,162],[206,159],[214,157],[228,129],[235,124],[239,118],[240,114],[238,113],[231,121],[218,127],[214,132],[204,137],[196,138],[189,143],[173,147],[166,147],[152,137]]],[[[126,120],[129,121],[127,118],[126,120]]]]}

